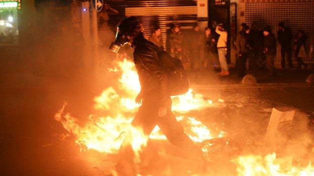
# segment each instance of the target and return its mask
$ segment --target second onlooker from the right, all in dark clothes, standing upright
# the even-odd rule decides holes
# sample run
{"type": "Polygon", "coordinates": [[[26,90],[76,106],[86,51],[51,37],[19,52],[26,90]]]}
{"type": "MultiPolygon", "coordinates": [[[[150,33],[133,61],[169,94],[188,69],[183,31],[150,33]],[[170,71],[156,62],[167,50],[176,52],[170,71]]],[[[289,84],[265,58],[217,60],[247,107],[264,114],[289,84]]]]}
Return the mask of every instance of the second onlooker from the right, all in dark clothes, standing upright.
{"type": "Polygon", "coordinates": [[[291,70],[295,70],[293,67],[292,62],[292,50],[291,50],[291,41],[292,41],[292,32],[290,28],[286,27],[283,23],[278,24],[278,43],[280,44],[281,48],[281,67],[282,69],[286,69],[286,61],[285,61],[285,55],[287,53],[288,55],[288,62],[289,67],[291,70]]]}

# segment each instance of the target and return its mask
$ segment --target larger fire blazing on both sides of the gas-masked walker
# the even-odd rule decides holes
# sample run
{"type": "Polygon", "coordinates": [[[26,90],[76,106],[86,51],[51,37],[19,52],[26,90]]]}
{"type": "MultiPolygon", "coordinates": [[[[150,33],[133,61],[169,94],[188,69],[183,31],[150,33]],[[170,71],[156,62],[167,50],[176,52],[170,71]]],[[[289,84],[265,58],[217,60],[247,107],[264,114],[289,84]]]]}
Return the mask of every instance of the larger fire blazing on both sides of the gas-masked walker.
{"type": "MultiPolygon", "coordinates": [[[[118,87],[108,87],[99,96],[94,98],[94,109],[108,111],[109,116],[96,117],[90,115],[84,126],[78,125],[78,120],[65,113],[66,103],[55,114],[55,119],[60,121],[64,129],[76,136],[75,142],[81,146],[81,150],[95,149],[100,152],[117,153],[122,141],[130,133],[130,141],[135,151],[140,151],[140,146],[145,146],[147,136],[144,136],[140,129],[133,129],[130,124],[139,104],[134,99],[140,92],[138,75],[134,63],[126,59],[116,63],[116,67],[109,69],[109,72],[121,74],[118,79],[118,87]],[[132,115],[133,114],[133,115],[132,115]],[[133,137],[132,137],[133,136],[133,137]],[[135,140],[136,139],[136,140],[135,140]],[[139,141],[137,141],[139,139],[139,141]],[[131,140],[134,140],[132,142],[131,140]]],[[[195,93],[192,89],[180,96],[173,97],[173,110],[178,113],[186,113],[191,110],[200,110],[209,107],[211,100],[206,100],[202,94],[195,93]]],[[[197,121],[195,117],[186,118],[184,115],[177,117],[178,121],[188,124],[186,133],[195,142],[202,142],[214,138],[210,130],[197,121]]],[[[151,139],[166,139],[160,128],[155,126],[149,135],[151,139]]]]}

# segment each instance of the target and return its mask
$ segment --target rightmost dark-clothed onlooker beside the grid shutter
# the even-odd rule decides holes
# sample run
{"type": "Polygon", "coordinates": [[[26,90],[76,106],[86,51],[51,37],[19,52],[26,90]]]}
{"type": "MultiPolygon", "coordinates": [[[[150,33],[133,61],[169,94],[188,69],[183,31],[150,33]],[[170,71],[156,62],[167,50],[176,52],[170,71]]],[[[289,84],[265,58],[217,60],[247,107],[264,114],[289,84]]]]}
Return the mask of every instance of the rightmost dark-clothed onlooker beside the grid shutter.
{"type": "Polygon", "coordinates": [[[305,35],[304,31],[299,31],[296,39],[294,40],[294,48],[295,48],[295,57],[298,61],[298,70],[301,70],[302,66],[304,66],[304,70],[306,70],[307,64],[302,61],[302,58],[299,55],[300,48],[304,47],[305,52],[305,43],[307,40],[307,36],[305,35]]]}

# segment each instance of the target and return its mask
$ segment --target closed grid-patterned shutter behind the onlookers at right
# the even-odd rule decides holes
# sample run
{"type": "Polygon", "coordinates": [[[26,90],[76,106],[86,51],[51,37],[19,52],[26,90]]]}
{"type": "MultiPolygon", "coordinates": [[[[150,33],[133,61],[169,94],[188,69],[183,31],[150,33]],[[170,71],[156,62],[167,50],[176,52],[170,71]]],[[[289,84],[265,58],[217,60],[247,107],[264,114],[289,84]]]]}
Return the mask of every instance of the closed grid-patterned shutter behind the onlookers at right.
{"type": "MultiPolygon", "coordinates": [[[[263,27],[270,25],[272,32],[276,36],[276,40],[279,22],[283,22],[286,26],[290,27],[294,38],[298,30],[303,30],[308,37],[306,42],[307,58],[304,61],[309,63],[314,62],[313,0],[248,0],[246,1],[246,22],[250,26],[253,22],[257,22],[263,27]]],[[[293,60],[296,62],[294,52],[293,60]]],[[[275,64],[280,64],[280,45],[278,41],[275,64]]]]}

